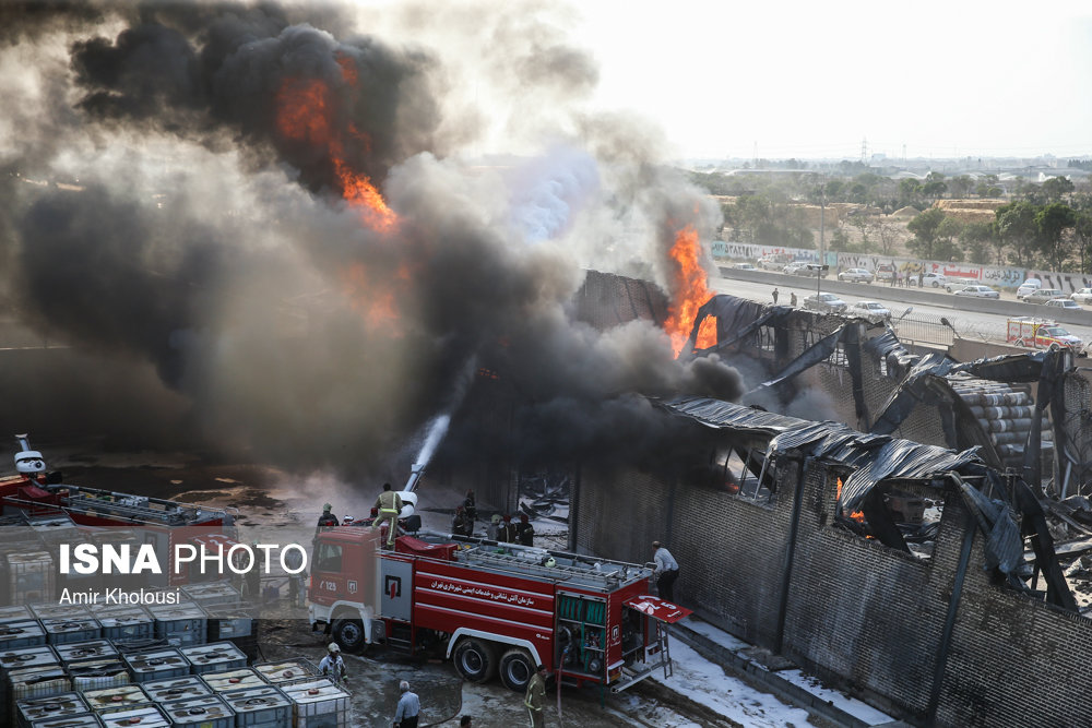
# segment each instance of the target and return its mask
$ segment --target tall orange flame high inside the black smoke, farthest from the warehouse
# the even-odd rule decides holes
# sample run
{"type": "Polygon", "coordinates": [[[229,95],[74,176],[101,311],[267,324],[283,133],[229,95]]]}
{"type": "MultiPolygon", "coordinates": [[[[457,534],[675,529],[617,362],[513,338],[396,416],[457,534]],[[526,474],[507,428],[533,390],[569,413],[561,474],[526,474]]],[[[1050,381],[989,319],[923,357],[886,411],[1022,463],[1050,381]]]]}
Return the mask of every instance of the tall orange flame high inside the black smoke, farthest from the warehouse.
{"type": "MultiPolygon", "coordinates": [[[[349,84],[356,83],[356,69],[347,57],[337,59],[342,76],[349,84]]],[[[341,183],[342,196],[357,208],[366,226],[380,232],[390,232],[397,225],[397,216],[383,200],[367,175],[354,170],[345,160],[345,145],[334,129],[332,116],[334,99],[330,86],[320,79],[286,79],[276,95],[276,126],[282,136],[310,146],[325,147],[333,162],[341,183]]],[[[367,135],[351,126],[348,135],[370,146],[367,135]]]]}

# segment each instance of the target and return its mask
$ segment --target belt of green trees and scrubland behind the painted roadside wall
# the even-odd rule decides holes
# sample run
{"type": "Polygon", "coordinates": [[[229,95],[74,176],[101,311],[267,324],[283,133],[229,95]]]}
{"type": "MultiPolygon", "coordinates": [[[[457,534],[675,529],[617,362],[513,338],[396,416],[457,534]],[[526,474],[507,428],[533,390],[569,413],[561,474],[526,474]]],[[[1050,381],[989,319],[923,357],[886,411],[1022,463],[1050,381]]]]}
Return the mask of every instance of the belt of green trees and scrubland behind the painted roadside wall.
{"type": "Polygon", "coordinates": [[[1018,179],[1006,198],[1009,202],[988,222],[962,222],[936,203],[971,194],[1001,198],[1006,192],[996,176],[975,180],[931,172],[924,180],[895,181],[871,171],[852,177],[809,171],[771,177],[691,172],[691,179],[713,194],[733,198],[722,204],[724,235],[733,240],[816,248],[814,222],[802,203],[850,202],[865,208],[851,214],[845,226],[830,225],[824,236],[828,250],[897,254],[904,228],[913,236],[906,241],[909,252],[927,260],[1080,273],[1092,267],[1092,191],[1078,191],[1065,177],[1041,184],[1018,179]],[[921,212],[905,225],[887,217],[903,207],[921,212]],[[846,226],[856,235],[851,236],[846,226]]]}

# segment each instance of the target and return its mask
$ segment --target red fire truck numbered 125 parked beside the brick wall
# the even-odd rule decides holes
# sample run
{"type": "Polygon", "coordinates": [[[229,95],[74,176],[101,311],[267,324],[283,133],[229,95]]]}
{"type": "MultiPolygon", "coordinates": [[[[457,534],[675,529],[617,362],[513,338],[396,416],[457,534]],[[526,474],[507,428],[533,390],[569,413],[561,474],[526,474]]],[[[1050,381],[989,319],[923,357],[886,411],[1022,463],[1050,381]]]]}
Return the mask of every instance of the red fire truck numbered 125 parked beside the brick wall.
{"type": "Polygon", "coordinates": [[[614,692],[670,669],[665,624],[690,610],[648,595],[652,569],[439,535],[377,550],[370,529],[316,539],[309,616],[343,649],[442,649],[466,680],[524,690],[537,665],[614,692]]]}

